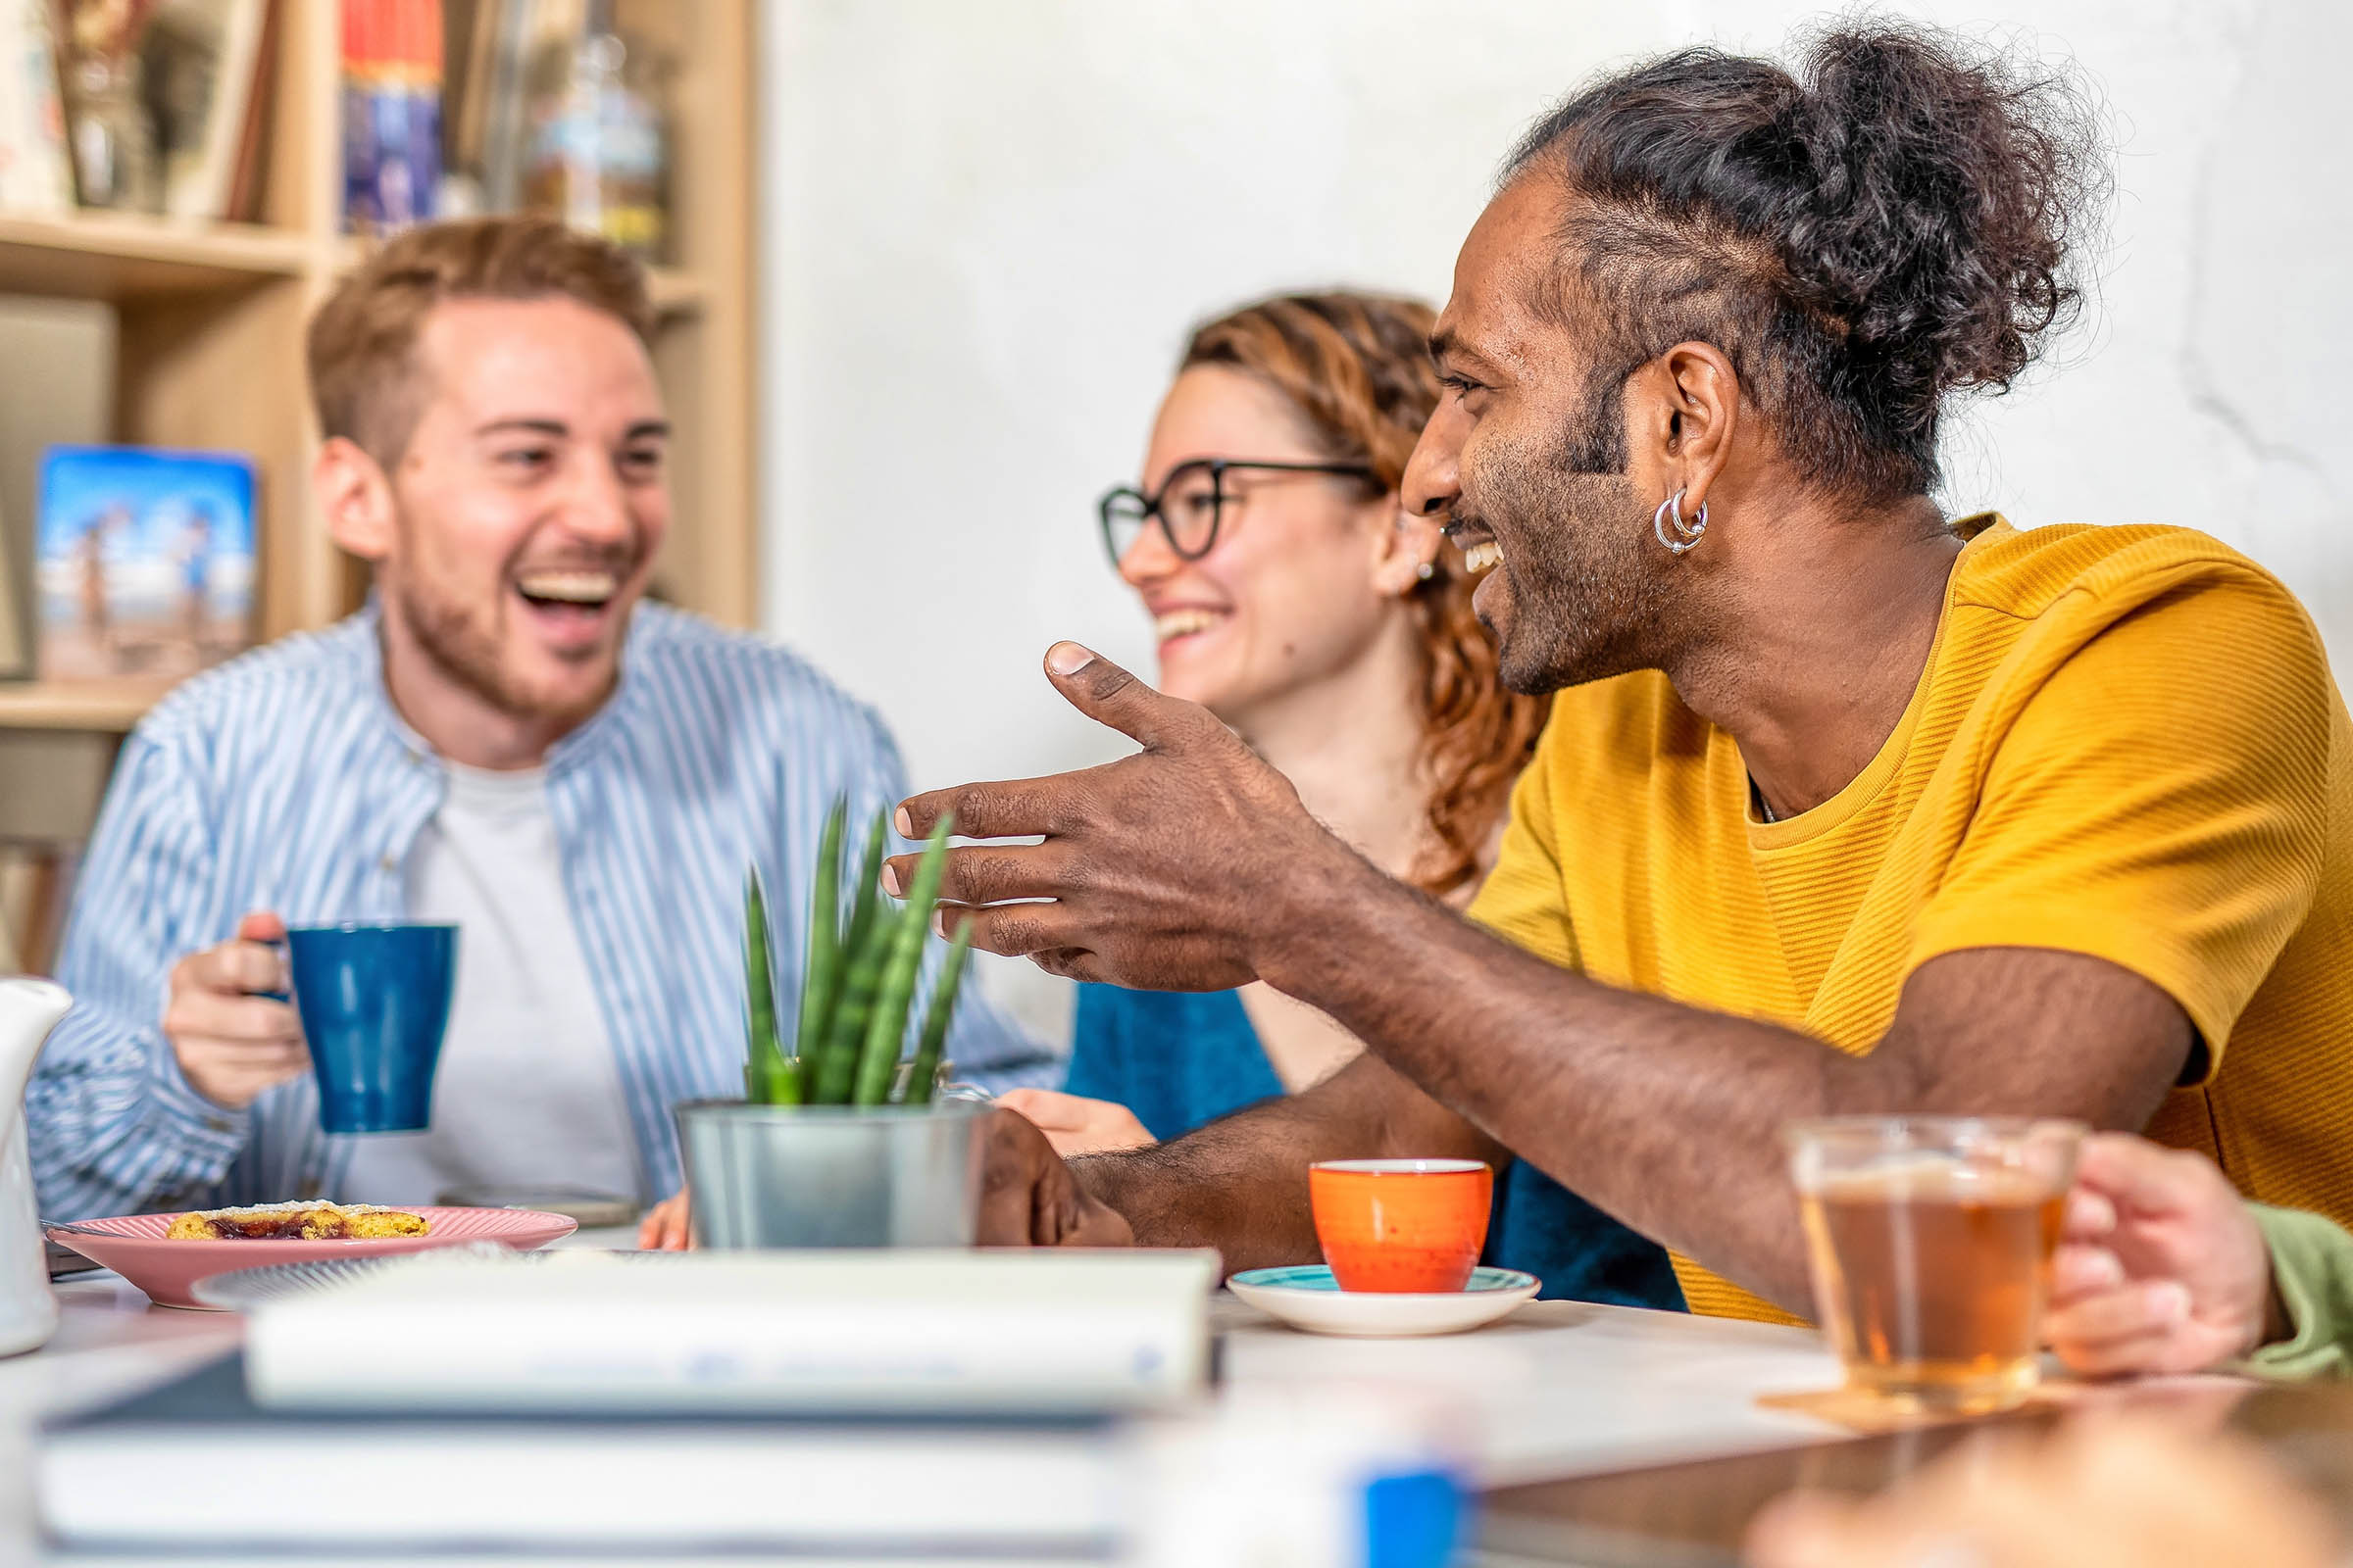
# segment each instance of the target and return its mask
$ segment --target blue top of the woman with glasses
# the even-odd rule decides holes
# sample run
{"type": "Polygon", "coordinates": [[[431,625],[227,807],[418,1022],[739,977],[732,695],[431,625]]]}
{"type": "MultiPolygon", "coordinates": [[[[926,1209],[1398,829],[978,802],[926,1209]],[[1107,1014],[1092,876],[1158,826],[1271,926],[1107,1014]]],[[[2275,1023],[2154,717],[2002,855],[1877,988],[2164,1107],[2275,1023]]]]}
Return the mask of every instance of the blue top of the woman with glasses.
{"type": "MultiPolygon", "coordinates": [[[[1080,985],[1078,1039],[1064,1088],[1118,1100],[1153,1138],[1176,1138],[1280,1095],[1282,1079],[1266,1060],[1238,992],[1080,985]]],[[[1657,1241],[1626,1229],[1525,1159],[1515,1159],[1494,1187],[1485,1262],[1534,1274],[1546,1298],[1682,1309],[1682,1286],[1657,1241]]]]}

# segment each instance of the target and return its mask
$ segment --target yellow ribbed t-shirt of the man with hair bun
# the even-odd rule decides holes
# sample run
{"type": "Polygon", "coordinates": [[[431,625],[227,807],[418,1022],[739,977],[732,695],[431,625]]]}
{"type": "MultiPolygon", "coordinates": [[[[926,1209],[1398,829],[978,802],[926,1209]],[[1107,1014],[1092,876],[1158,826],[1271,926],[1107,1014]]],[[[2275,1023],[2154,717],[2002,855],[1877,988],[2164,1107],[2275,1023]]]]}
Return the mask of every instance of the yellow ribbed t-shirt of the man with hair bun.
{"type": "MultiPolygon", "coordinates": [[[[2160,985],[2202,1077],[2148,1135],[2353,1225],[2353,724],[2311,618],[2188,529],[1960,524],[1894,733],[1784,823],[1659,672],[1562,691],[1471,917],[1593,980],[1840,1051],[1965,947],[2160,985]]],[[[1675,1258],[1694,1312],[1767,1302],[1675,1258]]]]}

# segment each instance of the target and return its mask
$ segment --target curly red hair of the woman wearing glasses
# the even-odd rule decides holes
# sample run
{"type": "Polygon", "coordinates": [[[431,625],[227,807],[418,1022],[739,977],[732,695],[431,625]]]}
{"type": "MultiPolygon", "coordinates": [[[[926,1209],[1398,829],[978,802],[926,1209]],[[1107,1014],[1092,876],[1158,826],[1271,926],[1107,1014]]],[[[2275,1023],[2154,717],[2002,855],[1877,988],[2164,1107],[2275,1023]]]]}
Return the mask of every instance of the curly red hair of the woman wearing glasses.
{"type": "MultiPolygon", "coordinates": [[[[1421,425],[1438,407],[1431,367],[1435,315],[1386,294],[1280,294],[1193,329],[1179,374],[1198,364],[1245,371],[1299,409],[1334,463],[1365,463],[1395,491],[1421,425]]],[[[1414,585],[1421,628],[1421,766],[1431,846],[1409,882],[1445,896],[1478,877],[1485,849],[1544,729],[1541,698],[1506,691],[1497,651],[1471,614],[1471,576],[1452,545],[1414,585]]]]}

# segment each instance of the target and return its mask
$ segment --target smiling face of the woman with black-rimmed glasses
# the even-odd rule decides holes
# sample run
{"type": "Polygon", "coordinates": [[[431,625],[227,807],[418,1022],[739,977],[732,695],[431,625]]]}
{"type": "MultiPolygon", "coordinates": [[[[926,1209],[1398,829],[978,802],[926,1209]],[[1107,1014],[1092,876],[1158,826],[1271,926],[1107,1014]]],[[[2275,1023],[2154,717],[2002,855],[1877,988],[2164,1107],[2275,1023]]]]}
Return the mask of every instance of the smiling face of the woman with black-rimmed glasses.
{"type": "MultiPolygon", "coordinates": [[[[1200,458],[1329,463],[1292,404],[1254,376],[1198,364],[1169,388],[1144,458],[1144,491],[1200,458]]],[[[1398,498],[1362,480],[1228,473],[1217,541],[1179,557],[1153,524],[1120,576],[1153,616],[1160,689],[1247,729],[1247,715],[1362,658],[1400,609],[1398,498]]],[[[1209,475],[1186,470],[1162,505],[1181,529],[1207,524],[1209,475]]],[[[1402,564],[1405,578],[1412,562],[1402,564]]]]}

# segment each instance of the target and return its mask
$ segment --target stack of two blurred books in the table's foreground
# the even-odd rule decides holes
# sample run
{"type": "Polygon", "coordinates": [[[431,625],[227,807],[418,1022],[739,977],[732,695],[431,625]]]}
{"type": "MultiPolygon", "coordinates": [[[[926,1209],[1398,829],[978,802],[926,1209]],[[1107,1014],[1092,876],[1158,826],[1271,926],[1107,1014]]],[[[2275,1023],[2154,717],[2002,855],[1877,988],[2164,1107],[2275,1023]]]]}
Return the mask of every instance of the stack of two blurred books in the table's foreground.
{"type": "Polygon", "coordinates": [[[1104,1556],[1202,1410],[1214,1253],[424,1255],[52,1422],[104,1552],[1104,1556]]]}

